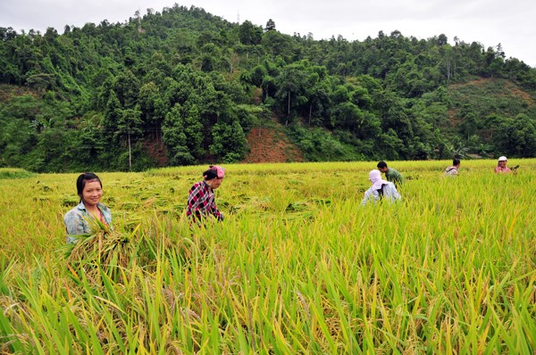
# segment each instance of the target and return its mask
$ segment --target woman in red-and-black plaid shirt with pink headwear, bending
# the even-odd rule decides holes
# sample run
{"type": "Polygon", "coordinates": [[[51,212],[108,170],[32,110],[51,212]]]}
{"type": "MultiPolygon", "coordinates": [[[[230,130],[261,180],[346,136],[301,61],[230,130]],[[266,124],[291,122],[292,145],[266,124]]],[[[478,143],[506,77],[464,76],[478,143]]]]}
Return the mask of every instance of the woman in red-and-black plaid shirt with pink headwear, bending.
{"type": "Polygon", "coordinates": [[[203,181],[190,188],[186,216],[195,221],[199,227],[205,219],[223,220],[223,213],[216,208],[214,190],[222,185],[225,170],[218,165],[211,165],[203,173],[203,181]]]}

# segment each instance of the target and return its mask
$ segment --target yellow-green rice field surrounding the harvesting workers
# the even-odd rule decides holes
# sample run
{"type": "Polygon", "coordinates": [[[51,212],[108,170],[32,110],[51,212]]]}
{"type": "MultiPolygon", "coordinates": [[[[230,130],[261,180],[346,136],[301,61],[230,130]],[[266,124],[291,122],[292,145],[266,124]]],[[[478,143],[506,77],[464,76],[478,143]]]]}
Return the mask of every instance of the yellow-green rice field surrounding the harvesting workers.
{"type": "Polygon", "coordinates": [[[89,270],[78,174],[0,169],[0,353],[533,354],[536,160],[508,162],[388,161],[403,200],[366,207],[375,162],[227,165],[194,231],[205,166],[96,171],[129,244],[89,270]]]}

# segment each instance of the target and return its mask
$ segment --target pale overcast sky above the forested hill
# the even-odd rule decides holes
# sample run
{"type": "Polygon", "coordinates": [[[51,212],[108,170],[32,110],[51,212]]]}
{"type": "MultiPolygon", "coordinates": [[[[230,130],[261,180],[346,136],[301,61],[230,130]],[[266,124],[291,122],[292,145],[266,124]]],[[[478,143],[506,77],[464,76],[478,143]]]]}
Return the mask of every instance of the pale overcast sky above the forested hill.
{"type": "Polygon", "coordinates": [[[173,4],[202,7],[231,22],[252,21],[292,35],[311,32],[314,39],[342,35],[348,40],[389,35],[429,38],[445,34],[454,44],[480,42],[485,48],[499,43],[508,57],[536,68],[536,1],[534,0],[0,0],[0,27],[36,29],[86,22],[123,22],[138,9],[161,12],[173,4]]]}

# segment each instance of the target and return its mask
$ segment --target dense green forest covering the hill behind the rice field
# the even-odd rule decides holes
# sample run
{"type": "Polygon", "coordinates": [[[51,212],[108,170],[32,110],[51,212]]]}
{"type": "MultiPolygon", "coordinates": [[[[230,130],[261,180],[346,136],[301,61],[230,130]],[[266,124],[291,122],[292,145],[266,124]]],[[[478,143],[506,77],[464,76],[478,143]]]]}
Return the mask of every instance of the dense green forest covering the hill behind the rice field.
{"type": "Polygon", "coordinates": [[[0,28],[0,166],[241,161],[269,120],[308,161],[536,156],[536,70],[454,43],[314,40],[178,4],[63,34],[0,28]]]}

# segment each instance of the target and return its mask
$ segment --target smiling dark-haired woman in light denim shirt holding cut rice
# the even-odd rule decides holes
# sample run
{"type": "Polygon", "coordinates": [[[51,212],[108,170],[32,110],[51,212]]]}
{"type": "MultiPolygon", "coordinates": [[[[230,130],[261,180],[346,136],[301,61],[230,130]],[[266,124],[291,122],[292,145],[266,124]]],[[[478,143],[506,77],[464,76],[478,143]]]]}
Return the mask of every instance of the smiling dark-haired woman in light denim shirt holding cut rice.
{"type": "Polygon", "coordinates": [[[63,218],[68,244],[74,244],[78,241],[76,235],[90,232],[88,219],[98,219],[105,226],[112,224],[110,209],[100,202],[103,197],[103,184],[100,178],[92,172],[82,173],[76,180],[76,188],[80,196],[80,203],[65,213],[63,218]]]}

